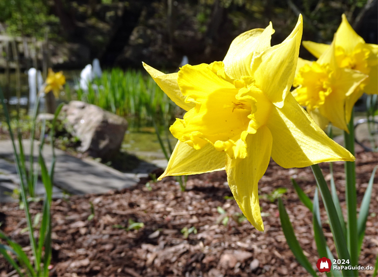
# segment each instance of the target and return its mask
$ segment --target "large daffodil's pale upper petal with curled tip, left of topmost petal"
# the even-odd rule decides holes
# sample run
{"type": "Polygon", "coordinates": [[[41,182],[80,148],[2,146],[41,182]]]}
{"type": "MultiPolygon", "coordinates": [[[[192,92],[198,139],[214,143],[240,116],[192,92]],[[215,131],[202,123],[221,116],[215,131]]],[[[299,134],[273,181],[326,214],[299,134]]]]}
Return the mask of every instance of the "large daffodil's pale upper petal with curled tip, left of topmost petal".
{"type": "Polygon", "coordinates": [[[238,35],[224,57],[224,68],[233,79],[250,76],[250,63],[254,52],[263,52],[270,47],[274,29],[272,22],[265,29],[253,29],[238,35]]]}

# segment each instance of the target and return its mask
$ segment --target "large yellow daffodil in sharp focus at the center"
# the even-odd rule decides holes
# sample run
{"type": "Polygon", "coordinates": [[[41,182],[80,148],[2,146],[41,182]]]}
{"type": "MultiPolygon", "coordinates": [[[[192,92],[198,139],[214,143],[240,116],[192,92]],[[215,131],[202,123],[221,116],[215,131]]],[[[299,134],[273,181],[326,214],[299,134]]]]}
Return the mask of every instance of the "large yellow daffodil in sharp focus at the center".
{"type": "Polygon", "coordinates": [[[181,108],[170,130],[178,143],[159,177],[226,169],[241,211],[264,231],[258,182],[270,157],[279,165],[305,167],[354,157],[330,140],[290,93],[302,36],[302,17],[281,43],[270,46],[272,24],[236,37],[223,60],[184,65],[163,74],[143,63],[181,108]]]}

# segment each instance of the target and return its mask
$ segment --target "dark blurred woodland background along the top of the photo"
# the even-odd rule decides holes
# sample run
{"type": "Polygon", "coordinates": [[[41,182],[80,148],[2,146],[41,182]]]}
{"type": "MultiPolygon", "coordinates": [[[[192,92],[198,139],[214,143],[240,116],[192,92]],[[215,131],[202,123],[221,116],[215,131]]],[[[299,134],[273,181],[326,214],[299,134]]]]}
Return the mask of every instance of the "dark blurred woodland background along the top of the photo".
{"type": "MultiPolygon", "coordinates": [[[[97,57],[108,67],[141,67],[143,60],[173,71],[183,55],[192,64],[222,60],[235,36],[269,21],[272,44],[280,43],[299,13],[304,40],[330,42],[345,13],[366,42],[377,43],[376,0],[7,0],[0,1],[0,32],[48,36],[59,69],[97,57]]],[[[25,67],[23,57],[20,51],[25,67]]]]}

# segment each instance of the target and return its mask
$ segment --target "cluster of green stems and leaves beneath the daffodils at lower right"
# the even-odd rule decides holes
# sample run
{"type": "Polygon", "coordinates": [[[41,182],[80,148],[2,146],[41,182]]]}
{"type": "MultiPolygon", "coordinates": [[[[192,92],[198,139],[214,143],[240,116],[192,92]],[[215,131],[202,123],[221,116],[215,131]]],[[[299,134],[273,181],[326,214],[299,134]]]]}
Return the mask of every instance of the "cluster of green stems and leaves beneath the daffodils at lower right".
{"type": "MultiPolygon", "coordinates": [[[[344,132],[345,148],[354,155],[353,112],[348,124],[348,128],[349,133],[344,132]]],[[[332,138],[331,128],[329,129],[329,135],[332,138]]],[[[292,182],[295,191],[299,196],[299,199],[312,212],[314,240],[318,248],[319,257],[328,257],[329,259],[331,259],[331,261],[334,260],[334,256],[327,245],[327,240],[323,233],[322,221],[320,218],[318,189],[321,192],[321,196],[323,198],[323,203],[327,212],[338,259],[347,261],[347,264],[345,264],[346,268],[343,268],[340,271],[334,269],[333,264],[331,266],[330,272],[326,272],[326,274],[327,276],[358,276],[358,270],[354,268],[358,266],[358,256],[360,254],[363,238],[365,235],[373,180],[377,167],[374,168],[371,174],[368,186],[360,205],[360,211],[357,216],[355,162],[345,162],[345,198],[347,208],[346,221],[344,219],[340,201],[336,193],[332,163],[330,163],[331,191],[327,185],[327,182],[319,165],[312,165],[311,169],[318,185],[313,197],[313,201],[310,200],[310,198],[303,192],[303,190],[293,179],[292,182]],[[351,266],[351,269],[349,269],[348,266],[351,266]]],[[[316,271],[314,271],[310,262],[303,254],[303,250],[300,247],[298,240],[296,239],[294,230],[281,199],[279,199],[279,212],[284,235],[295,258],[307,270],[308,273],[310,273],[312,276],[317,276],[316,271]]],[[[378,256],[376,258],[373,276],[376,276],[377,266],[378,256]]]]}

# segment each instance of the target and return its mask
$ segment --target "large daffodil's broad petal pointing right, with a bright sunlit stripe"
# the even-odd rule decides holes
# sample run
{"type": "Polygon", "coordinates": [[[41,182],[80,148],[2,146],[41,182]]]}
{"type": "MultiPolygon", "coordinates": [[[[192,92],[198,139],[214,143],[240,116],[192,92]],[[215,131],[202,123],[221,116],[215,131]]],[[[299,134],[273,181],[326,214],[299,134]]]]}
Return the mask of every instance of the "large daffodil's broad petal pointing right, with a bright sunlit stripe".
{"type": "Polygon", "coordinates": [[[283,108],[272,108],[267,126],[273,136],[272,158],[284,168],[355,160],[324,133],[291,94],[283,108]]]}

